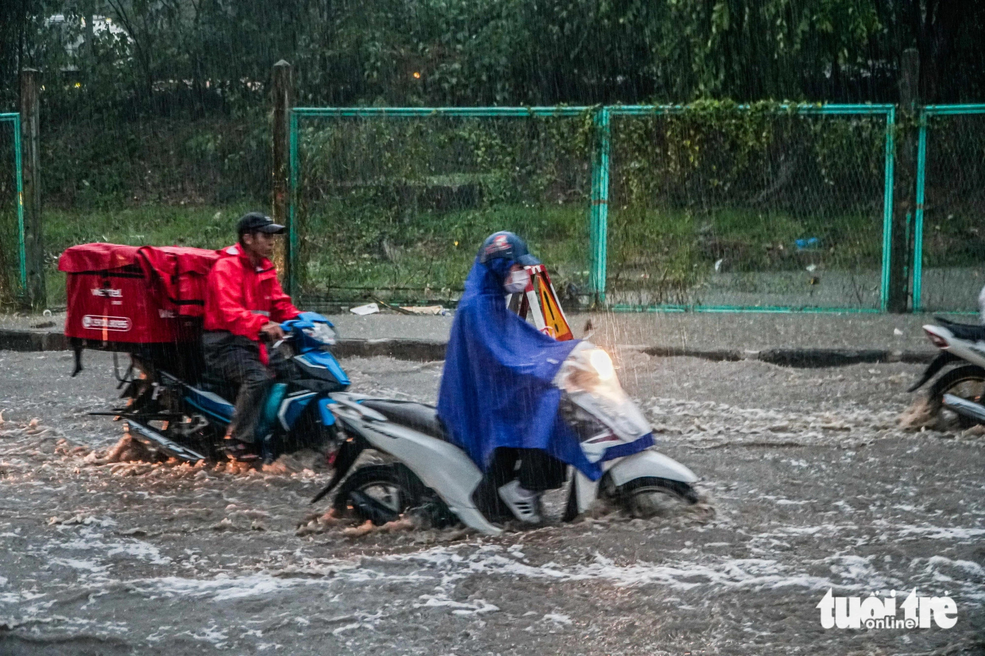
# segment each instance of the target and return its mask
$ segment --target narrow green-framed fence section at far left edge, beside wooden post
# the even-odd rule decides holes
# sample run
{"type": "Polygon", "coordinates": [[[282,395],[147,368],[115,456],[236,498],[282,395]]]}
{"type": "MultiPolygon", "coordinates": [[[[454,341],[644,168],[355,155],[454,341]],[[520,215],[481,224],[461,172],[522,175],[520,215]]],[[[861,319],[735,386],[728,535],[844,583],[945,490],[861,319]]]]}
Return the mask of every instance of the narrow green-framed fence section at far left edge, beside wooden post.
{"type": "Polygon", "coordinates": [[[25,285],[22,192],[21,117],[0,114],[0,302],[12,301],[25,285]]]}

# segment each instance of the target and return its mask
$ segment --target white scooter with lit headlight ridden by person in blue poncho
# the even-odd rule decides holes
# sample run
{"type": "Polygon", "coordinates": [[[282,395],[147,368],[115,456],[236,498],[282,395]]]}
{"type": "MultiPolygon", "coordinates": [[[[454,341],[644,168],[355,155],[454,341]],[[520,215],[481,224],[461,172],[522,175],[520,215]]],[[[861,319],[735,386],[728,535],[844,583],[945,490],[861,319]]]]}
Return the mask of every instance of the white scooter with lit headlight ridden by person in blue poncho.
{"type": "MultiPolygon", "coordinates": [[[[589,342],[580,343],[562,363],[555,384],[563,390],[560,416],[578,435],[589,462],[602,461],[609,448],[652,430],[625,394],[609,355],[589,342]]],[[[499,518],[493,510],[495,484],[465,451],[448,441],[433,407],[349,392],[330,397],[333,403],[328,408],[344,432],[344,441],[331,481],[311,502],[338,488],[337,511],[376,524],[423,509],[437,525],[460,520],[487,535],[501,532],[493,523],[499,518]],[[367,448],[393,461],[363,465],[350,473],[367,448]]],[[[697,500],[691,487],[697,477],[652,448],[607,460],[602,467],[605,474],[597,482],[575,471],[565,521],[600,497],[621,503],[636,516],[697,500]]]]}

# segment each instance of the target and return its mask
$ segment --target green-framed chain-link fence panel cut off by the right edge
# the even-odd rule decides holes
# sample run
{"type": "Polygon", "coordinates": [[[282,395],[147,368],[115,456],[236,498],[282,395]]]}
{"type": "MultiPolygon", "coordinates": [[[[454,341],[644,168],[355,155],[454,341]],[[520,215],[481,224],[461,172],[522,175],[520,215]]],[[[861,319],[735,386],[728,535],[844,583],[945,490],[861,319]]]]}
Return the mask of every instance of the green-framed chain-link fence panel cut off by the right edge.
{"type": "Polygon", "coordinates": [[[985,287],[985,104],[920,115],[914,311],[977,311],[985,287]]]}

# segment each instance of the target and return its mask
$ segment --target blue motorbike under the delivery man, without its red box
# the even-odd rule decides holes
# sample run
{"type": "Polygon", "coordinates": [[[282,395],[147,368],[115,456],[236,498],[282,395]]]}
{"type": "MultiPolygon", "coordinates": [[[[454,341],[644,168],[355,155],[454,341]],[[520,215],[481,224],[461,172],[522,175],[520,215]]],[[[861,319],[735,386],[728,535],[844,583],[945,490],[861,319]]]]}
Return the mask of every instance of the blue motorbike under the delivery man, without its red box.
{"type": "MultiPolygon", "coordinates": [[[[291,362],[294,375],[271,387],[256,430],[262,438],[251,455],[268,462],[302,448],[329,455],[337,437],[330,394],[350,384],[328,351],[336,341],[334,326],[320,314],[303,312],[281,328],[286,337],[270,348],[291,362]]],[[[192,463],[223,457],[236,390],[225,381],[206,379],[201,353],[190,350],[186,346],[164,358],[131,353],[122,394],[126,407],[94,414],[119,418],[134,439],[164,455],[192,463]]]]}

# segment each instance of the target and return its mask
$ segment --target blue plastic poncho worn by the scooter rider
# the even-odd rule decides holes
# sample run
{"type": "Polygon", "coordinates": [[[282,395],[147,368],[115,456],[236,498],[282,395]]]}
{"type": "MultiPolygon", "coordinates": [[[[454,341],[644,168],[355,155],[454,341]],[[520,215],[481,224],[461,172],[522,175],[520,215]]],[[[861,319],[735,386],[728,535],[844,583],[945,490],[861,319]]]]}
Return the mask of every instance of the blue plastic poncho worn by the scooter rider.
{"type": "Polygon", "coordinates": [[[561,362],[578,344],[540,333],[505,303],[511,260],[476,259],[448,339],[437,414],[451,441],[483,471],[499,447],[544,449],[598,480],[577,436],[558,417],[561,362]]]}

